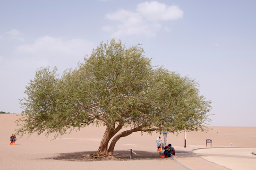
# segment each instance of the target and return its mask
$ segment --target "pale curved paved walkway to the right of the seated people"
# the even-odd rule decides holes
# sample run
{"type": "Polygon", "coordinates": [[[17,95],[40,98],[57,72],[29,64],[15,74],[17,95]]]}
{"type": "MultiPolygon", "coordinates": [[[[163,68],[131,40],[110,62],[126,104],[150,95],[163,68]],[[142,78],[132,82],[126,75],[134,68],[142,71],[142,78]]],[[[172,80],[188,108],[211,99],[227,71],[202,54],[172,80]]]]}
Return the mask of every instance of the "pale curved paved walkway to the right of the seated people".
{"type": "Polygon", "coordinates": [[[199,148],[172,159],[188,170],[256,170],[255,148],[199,148]]]}

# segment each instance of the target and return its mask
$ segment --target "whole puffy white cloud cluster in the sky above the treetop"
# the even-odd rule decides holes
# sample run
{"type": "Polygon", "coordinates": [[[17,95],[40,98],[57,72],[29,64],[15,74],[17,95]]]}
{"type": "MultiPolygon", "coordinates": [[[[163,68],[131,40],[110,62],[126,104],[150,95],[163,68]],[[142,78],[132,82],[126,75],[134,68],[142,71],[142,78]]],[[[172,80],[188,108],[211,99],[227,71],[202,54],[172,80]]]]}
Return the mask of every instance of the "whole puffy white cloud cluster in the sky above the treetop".
{"type": "Polygon", "coordinates": [[[118,21],[116,26],[102,26],[103,31],[112,32],[111,37],[130,35],[156,36],[163,30],[170,32],[171,28],[163,27],[160,21],[174,20],[182,17],[183,11],[177,6],[167,6],[157,1],[144,2],[137,5],[137,12],[119,9],[106,14],[106,18],[118,21]]]}

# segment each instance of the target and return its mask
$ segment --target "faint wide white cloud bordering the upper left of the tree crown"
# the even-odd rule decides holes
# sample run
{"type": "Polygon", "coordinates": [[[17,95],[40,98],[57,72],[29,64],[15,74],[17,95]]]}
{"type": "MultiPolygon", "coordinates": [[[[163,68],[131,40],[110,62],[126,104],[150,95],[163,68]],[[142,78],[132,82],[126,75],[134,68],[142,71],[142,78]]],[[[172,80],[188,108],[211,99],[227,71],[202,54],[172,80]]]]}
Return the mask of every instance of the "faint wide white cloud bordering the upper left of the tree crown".
{"type": "Polygon", "coordinates": [[[33,44],[17,46],[15,55],[31,58],[41,66],[57,66],[60,71],[74,68],[79,61],[83,61],[85,54],[90,54],[93,44],[84,39],[64,40],[44,36],[33,44]]]}

